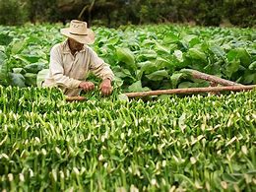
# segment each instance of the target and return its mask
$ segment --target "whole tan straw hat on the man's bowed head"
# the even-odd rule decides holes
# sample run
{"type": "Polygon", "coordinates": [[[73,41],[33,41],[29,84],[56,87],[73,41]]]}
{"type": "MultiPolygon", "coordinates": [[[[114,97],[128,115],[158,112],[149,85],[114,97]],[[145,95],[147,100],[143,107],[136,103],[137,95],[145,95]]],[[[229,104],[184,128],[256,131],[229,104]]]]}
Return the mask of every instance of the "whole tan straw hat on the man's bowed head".
{"type": "Polygon", "coordinates": [[[60,32],[83,44],[93,44],[95,42],[95,32],[87,28],[87,23],[72,20],[69,28],[61,29],[60,32]]]}

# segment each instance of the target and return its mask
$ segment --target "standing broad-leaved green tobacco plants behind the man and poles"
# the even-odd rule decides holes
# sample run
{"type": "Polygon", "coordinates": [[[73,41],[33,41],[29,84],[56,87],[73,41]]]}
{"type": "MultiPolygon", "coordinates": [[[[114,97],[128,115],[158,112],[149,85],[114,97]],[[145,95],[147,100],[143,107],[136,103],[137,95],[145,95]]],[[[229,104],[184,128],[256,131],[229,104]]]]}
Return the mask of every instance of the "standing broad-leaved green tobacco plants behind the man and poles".
{"type": "MultiPolygon", "coordinates": [[[[37,76],[40,82],[42,69],[48,67],[50,48],[65,39],[61,28],[0,27],[0,84],[36,86],[37,76]]],[[[160,25],[94,30],[93,48],[111,65],[124,92],[209,86],[187,77],[180,71],[184,68],[241,84],[256,83],[254,29],[160,25]]]]}

